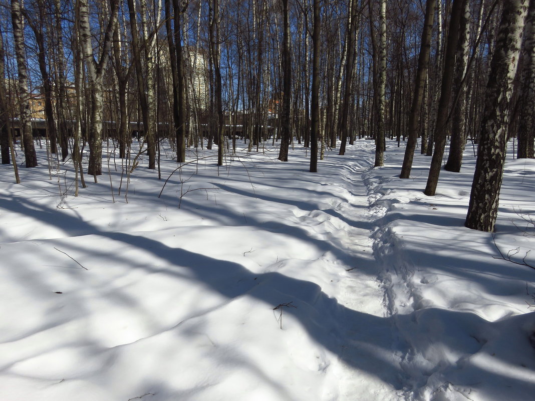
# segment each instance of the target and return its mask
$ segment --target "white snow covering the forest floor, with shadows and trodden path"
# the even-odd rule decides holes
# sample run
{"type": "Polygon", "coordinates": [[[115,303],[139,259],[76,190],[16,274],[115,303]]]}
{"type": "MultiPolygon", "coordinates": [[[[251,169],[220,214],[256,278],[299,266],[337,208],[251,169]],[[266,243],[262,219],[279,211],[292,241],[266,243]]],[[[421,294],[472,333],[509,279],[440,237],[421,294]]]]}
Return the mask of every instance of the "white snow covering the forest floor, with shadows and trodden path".
{"type": "Polygon", "coordinates": [[[463,226],[471,149],[427,197],[430,158],[400,180],[387,146],[318,173],[297,144],[173,174],[163,148],[163,180],[110,147],[78,197],[70,161],[2,166],[0,399],[532,399],[535,271],[498,258],[533,249],[535,161],[509,157],[492,235],[463,226]]]}

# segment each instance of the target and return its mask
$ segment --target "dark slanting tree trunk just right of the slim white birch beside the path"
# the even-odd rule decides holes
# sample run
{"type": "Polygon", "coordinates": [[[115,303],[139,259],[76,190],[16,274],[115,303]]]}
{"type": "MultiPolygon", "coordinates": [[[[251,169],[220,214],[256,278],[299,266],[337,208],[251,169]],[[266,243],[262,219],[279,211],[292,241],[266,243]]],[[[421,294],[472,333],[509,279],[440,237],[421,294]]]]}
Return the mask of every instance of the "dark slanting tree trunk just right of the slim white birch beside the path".
{"type": "MultiPolygon", "coordinates": [[[[409,178],[416,149],[416,139],[418,137],[418,119],[422,108],[425,80],[427,79],[427,69],[429,68],[429,54],[431,52],[431,33],[433,29],[435,0],[427,0],[425,5],[424,29],[422,30],[422,43],[418,56],[418,67],[414,95],[412,95],[412,106],[409,114],[409,127],[407,136],[407,147],[403,158],[400,178],[409,178]]],[[[422,138],[424,141],[424,138],[422,138]]]]}

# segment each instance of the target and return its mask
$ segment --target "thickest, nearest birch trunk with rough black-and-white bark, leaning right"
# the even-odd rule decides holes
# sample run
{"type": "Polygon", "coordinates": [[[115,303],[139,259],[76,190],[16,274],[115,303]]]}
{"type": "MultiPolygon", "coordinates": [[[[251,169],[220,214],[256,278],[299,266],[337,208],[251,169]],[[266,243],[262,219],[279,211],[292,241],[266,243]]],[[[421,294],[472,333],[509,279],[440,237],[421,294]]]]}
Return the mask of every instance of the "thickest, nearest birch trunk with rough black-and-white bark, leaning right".
{"type": "MultiPolygon", "coordinates": [[[[531,2],[533,3],[533,2],[531,2]]],[[[468,214],[464,225],[493,232],[507,146],[510,99],[518,64],[528,0],[503,2],[496,36],[481,122],[476,172],[472,182],[468,214]]]]}

